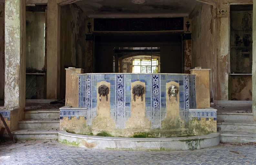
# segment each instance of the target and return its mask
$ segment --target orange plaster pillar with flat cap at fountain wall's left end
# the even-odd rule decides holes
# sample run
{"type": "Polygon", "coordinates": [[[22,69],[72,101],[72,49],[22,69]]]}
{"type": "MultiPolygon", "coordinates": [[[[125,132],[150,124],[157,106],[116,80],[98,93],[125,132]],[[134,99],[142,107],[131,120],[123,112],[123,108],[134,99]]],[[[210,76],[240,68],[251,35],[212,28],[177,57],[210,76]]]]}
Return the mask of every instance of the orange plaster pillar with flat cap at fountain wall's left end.
{"type": "Polygon", "coordinates": [[[65,106],[78,107],[78,76],[84,69],[69,67],[66,70],[66,101],[65,106]]]}

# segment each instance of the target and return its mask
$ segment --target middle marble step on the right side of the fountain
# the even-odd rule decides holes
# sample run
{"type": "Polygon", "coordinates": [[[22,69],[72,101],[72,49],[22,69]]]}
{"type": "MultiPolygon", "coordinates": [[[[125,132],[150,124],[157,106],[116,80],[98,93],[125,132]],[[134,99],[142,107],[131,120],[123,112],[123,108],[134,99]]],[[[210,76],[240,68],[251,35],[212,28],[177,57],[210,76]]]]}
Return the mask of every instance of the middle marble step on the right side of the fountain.
{"type": "Polygon", "coordinates": [[[254,121],[217,121],[218,131],[241,131],[256,133],[256,123],[254,121]]]}

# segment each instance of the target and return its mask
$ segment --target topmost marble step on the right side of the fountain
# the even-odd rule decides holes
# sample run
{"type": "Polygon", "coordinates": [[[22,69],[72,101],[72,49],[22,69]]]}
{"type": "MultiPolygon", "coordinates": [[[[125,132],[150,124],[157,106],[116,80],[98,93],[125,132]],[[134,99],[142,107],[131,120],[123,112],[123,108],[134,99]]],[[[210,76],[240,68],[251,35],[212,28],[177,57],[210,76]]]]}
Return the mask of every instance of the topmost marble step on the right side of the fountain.
{"type": "Polygon", "coordinates": [[[218,121],[254,121],[252,113],[224,113],[217,112],[218,121]]]}

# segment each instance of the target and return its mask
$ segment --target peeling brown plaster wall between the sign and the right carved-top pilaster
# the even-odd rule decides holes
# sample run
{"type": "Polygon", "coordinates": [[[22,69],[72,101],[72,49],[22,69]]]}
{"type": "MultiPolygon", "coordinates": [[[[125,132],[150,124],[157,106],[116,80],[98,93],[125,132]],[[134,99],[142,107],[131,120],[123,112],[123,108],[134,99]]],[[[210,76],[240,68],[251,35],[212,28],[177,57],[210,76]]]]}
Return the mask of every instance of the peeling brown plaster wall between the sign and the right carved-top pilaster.
{"type": "Polygon", "coordinates": [[[215,52],[215,19],[211,5],[201,4],[192,18],[192,68],[210,69],[210,98],[213,98],[213,70],[215,52]]]}

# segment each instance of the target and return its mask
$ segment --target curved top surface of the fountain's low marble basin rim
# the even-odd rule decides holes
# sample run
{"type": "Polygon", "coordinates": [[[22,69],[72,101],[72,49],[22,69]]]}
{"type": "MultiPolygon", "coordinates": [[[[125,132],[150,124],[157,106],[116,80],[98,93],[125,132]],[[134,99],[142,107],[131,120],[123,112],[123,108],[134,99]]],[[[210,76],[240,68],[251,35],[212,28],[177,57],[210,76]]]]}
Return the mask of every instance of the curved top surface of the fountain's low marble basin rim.
{"type": "Polygon", "coordinates": [[[91,136],[91,135],[80,135],[75,133],[69,133],[67,131],[58,131],[59,135],[81,138],[81,139],[93,139],[93,140],[109,140],[109,141],[191,141],[191,140],[203,140],[212,139],[220,136],[218,132],[212,132],[208,135],[201,136],[189,136],[189,137],[175,137],[175,138],[122,138],[122,137],[104,137],[104,136],[91,136]]]}

